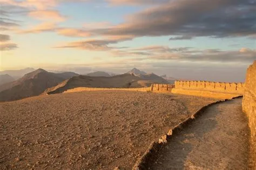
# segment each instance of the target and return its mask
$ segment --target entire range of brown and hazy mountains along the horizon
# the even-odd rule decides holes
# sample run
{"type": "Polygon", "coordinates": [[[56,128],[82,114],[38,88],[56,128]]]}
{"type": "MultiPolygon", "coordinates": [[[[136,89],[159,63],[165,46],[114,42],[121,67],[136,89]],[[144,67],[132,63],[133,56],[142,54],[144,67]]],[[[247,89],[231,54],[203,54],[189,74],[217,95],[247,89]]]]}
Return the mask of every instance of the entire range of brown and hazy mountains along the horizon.
{"type": "MultiPolygon", "coordinates": [[[[32,68],[23,70],[9,70],[18,76],[32,68]]],[[[75,87],[147,87],[151,84],[168,84],[166,76],[157,76],[133,68],[125,74],[113,76],[111,73],[97,71],[81,76],[74,72],[53,73],[43,69],[25,73],[22,78],[15,80],[9,74],[0,76],[0,101],[12,101],[26,97],[37,96],[42,93],[61,93],[75,87]],[[4,82],[5,81],[5,82],[4,82]],[[11,82],[10,82],[11,81],[11,82]]]]}

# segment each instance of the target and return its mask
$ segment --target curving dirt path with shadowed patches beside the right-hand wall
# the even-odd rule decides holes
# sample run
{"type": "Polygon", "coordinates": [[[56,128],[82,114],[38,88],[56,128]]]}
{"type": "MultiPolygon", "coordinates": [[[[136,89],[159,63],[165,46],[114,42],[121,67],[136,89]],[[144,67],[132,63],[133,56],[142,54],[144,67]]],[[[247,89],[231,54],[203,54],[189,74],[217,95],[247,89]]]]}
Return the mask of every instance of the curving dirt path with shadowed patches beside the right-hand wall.
{"type": "Polygon", "coordinates": [[[161,148],[150,169],[250,169],[250,130],[241,101],[208,108],[161,148]]]}

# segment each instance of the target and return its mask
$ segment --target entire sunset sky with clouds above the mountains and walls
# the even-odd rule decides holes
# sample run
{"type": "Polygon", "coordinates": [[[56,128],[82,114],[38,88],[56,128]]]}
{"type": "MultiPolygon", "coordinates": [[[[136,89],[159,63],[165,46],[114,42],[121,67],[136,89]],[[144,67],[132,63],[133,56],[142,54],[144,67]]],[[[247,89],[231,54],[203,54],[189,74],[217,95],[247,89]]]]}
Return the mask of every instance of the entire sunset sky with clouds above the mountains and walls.
{"type": "Polygon", "coordinates": [[[0,0],[0,71],[25,67],[244,81],[256,0],[0,0]]]}

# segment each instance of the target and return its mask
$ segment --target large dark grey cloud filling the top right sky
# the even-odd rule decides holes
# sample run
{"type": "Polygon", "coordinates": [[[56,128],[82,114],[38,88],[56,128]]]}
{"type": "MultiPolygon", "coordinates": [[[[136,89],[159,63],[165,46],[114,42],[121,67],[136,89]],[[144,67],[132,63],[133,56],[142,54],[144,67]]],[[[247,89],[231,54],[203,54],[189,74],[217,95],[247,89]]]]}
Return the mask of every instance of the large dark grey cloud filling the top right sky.
{"type": "Polygon", "coordinates": [[[254,0],[173,0],[129,15],[122,24],[91,31],[98,35],[175,36],[170,40],[252,36],[255,8],[254,0]]]}

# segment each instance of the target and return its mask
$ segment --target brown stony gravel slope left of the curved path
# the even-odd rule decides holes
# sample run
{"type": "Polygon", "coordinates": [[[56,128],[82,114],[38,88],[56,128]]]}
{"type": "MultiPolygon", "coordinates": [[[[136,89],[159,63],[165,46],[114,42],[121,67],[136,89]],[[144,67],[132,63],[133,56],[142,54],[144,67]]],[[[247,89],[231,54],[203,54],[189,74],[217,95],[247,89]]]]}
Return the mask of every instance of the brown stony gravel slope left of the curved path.
{"type": "Polygon", "coordinates": [[[0,103],[0,168],[131,169],[152,141],[213,101],[92,91],[0,103]]]}

